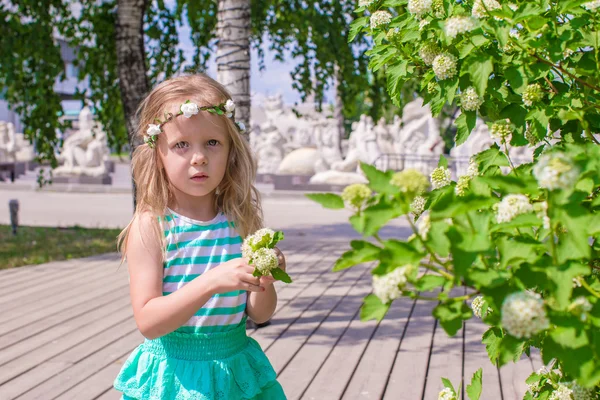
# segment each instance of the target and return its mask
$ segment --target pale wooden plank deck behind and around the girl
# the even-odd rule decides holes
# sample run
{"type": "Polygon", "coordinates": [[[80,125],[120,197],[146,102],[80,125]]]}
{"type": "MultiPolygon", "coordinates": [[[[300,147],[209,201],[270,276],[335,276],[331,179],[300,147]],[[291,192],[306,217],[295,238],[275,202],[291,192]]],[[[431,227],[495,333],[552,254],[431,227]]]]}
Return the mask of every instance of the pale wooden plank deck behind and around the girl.
{"type": "MultiPolygon", "coordinates": [[[[358,312],[367,267],[330,272],[347,244],[283,246],[294,283],[278,287],[272,324],[250,331],[289,399],[436,400],[484,367],[483,400],[521,399],[539,357],[494,368],[469,320],[453,338],[432,302],[396,301],[381,323],[358,312]]],[[[0,271],[0,399],[118,399],[112,381],[142,340],[116,255],[0,271]]],[[[463,385],[464,387],[464,385],[463,385]]]]}

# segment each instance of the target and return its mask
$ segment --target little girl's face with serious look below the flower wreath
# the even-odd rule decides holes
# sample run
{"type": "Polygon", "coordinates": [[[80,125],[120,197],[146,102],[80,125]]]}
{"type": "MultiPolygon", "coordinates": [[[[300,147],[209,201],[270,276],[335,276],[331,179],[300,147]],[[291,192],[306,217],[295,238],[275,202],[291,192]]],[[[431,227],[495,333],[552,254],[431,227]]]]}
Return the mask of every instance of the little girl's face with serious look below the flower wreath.
{"type": "Polygon", "coordinates": [[[227,168],[230,140],[224,117],[200,111],[162,128],[158,154],[175,199],[213,196],[227,168]]]}

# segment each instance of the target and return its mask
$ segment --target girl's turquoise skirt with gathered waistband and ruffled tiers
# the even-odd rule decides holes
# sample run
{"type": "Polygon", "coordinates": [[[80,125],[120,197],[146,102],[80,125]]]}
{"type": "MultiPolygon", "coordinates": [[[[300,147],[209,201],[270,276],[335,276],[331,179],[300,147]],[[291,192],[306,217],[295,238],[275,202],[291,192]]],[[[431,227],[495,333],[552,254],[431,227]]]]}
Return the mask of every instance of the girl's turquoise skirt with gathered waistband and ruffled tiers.
{"type": "Polygon", "coordinates": [[[145,340],[114,382],[123,399],[282,400],[285,394],[245,319],[223,333],[172,332],[145,340]]]}

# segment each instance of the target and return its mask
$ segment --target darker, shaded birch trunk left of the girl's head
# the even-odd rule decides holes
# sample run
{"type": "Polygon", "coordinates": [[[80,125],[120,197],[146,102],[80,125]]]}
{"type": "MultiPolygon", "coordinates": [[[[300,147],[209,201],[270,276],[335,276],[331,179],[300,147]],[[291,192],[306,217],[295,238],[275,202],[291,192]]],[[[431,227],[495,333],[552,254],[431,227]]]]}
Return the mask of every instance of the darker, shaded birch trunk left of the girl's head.
{"type": "Polygon", "coordinates": [[[146,7],[147,0],[118,0],[117,2],[117,69],[132,152],[139,144],[134,143],[137,129],[136,111],[149,89],[143,29],[146,7]]]}

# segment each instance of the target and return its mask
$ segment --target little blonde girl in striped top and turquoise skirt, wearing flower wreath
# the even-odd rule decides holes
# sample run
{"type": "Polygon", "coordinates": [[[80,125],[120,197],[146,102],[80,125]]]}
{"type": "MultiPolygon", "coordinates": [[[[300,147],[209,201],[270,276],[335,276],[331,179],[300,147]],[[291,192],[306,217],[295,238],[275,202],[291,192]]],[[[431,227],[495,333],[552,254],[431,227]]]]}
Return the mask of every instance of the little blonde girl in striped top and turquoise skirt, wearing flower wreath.
{"type": "MultiPolygon", "coordinates": [[[[271,317],[271,277],[242,258],[261,228],[256,174],[235,104],[205,75],[158,85],[140,106],[137,209],[119,239],[146,337],[114,386],[123,399],[285,399],[246,318],[271,317]]],[[[279,252],[280,267],[285,258],[279,252]]]]}

